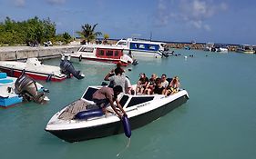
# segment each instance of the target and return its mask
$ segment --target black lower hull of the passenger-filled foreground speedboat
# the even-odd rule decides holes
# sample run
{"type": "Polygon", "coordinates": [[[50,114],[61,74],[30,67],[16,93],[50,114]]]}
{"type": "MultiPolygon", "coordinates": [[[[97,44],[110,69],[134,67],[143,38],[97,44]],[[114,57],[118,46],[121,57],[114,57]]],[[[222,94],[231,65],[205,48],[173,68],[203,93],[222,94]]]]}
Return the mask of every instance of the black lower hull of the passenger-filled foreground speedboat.
{"type": "MultiPolygon", "coordinates": [[[[164,104],[157,109],[151,110],[145,114],[139,114],[129,118],[131,129],[137,129],[145,124],[148,124],[160,116],[168,114],[170,111],[175,109],[181,104],[184,104],[188,100],[187,95],[180,96],[174,101],[171,101],[168,104],[164,104]]],[[[67,142],[78,142],[88,139],[105,137],[113,134],[124,133],[123,125],[121,121],[110,123],[110,124],[101,124],[93,127],[84,127],[77,129],[68,129],[68,130],[47,130],[47,132],[56,135],[58,138],[63,139],[67,142]]]]}

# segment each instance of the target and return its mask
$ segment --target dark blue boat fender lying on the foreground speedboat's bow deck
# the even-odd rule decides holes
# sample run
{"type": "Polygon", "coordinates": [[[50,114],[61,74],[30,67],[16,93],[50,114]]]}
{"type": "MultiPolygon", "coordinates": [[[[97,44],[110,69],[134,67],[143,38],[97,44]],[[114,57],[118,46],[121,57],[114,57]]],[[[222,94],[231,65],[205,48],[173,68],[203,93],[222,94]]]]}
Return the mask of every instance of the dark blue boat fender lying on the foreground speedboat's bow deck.
{"type": "Polygon", "coordinates": [[[87,111],[79,112],[75,115],[75,119],[88,119],[92,117],[102,116],[102,109],[92,109],[87,111]]]}

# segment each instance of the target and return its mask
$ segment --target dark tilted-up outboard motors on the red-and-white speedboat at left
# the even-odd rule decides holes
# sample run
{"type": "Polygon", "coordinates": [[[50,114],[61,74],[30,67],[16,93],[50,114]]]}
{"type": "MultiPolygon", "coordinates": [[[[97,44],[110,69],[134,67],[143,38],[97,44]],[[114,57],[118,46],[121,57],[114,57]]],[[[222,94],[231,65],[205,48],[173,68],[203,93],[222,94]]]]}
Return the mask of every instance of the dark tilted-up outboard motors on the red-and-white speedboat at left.
{"type": "Polygon", "coordinates": [[[76,71],[74,66],[70,63],[70,56],[65,60],[65,55],[61,57],[60,70],[63,74],[67,75],[67,78],[70,78],[71,74],[74,75],[77,79],[82,79],[85,75],[81,74],[80,71],[76,71]]]}

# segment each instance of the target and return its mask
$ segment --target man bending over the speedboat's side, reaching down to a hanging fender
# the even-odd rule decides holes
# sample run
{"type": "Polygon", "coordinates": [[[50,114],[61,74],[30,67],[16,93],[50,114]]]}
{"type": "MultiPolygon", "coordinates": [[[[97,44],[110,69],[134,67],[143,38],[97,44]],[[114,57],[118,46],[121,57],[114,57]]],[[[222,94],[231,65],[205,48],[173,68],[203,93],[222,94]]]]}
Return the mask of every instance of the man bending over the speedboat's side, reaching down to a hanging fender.
{"type": "Polygon", "coordinates": [[[122,92],[123,92],[123,89],[122,89],[122,86],[120,85],[116,85],[114,86],[114,88],[103,86],[92,95],[92,99],[98,106],[101,107],[102,112],[104,114],[106,113],[106,108],[110,104],[112,109],[116,112],[116,114],[118,114],[118,117],[121,118],[122,114],[120,114],[120,112],[114,105],[114,101],[116,101],[116,104],[118,108],[121,110],[121,112],[123,113],[123,115],[127,115],[123,107],[118,102],[118,94],[122,92]]]}

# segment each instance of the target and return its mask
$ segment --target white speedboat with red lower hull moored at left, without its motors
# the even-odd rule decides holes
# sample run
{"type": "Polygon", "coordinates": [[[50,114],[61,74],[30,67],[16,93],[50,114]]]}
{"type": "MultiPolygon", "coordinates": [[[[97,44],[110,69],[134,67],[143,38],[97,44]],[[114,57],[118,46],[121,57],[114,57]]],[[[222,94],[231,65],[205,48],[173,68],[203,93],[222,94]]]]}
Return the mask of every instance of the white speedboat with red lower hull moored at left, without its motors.
{"type": "Polygon", "coordinates": [[[10,76],[19,77],[24,72],[36,80],[62,81],[67,75],[61,73],[59,66],[42,65],[37,58],[28,58],[26,63],[17,61],[1,61],[0,70],[10,76]]]}

